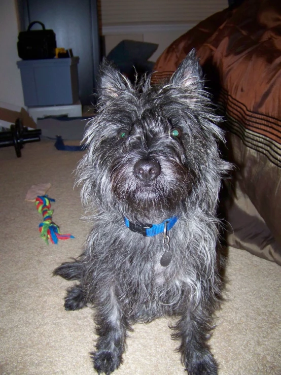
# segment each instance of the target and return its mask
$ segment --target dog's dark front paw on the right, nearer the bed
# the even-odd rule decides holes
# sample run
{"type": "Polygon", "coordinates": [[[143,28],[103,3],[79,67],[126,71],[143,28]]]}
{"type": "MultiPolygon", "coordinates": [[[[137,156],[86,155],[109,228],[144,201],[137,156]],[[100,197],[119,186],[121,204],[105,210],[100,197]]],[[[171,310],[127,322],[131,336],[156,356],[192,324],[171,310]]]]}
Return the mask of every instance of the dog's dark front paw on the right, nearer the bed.
{"type": "Polygon", "coordinates": [[[186,363],[188,375],[218,375],[218,366],[213,355],[209,351],[198,354],[186,363]]]}

